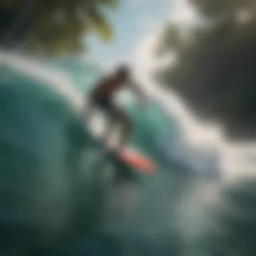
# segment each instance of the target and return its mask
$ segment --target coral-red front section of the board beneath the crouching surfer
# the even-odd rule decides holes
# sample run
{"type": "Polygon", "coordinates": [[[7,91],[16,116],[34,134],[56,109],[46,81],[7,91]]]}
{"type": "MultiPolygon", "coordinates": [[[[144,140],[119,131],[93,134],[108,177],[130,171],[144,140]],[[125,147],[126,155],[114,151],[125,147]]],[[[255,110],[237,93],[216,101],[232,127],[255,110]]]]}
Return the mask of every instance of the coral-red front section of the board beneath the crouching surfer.
{"type": "Polygon", "coordinates": [[[156,167],[154,163],[150,161],[145,156],[134,152],[132,150],[123,150],[122,152],[117,153],[119,159],[121,159],[125,164],[135,168],[140,172],[154,173],[156,172],[156,167]]]}

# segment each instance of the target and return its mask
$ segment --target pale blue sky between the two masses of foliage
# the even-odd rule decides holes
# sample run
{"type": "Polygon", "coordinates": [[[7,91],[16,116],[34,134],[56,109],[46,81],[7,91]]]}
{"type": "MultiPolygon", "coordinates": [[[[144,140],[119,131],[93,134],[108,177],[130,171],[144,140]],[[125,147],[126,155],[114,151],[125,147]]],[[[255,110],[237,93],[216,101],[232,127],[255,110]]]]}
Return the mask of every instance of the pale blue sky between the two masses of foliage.
{"type": "Polygon", "coordinates": [[[113,41],[88,38],[90,57],[106,67],[129,60],[141,40],[169,18],[173,4],[174,0],[121,0],[118,9],[107,13],[113,41]]]}

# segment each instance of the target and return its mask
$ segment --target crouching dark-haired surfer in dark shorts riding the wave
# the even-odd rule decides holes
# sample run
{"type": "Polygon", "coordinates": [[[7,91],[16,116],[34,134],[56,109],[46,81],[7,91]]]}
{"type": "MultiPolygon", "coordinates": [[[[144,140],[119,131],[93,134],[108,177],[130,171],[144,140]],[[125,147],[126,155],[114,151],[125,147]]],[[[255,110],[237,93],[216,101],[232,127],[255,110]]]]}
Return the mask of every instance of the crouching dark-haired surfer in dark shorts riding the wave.
{"type": "MultiPolygon", "coordinates": [[[[139,96],[140,106],[145,105],[145,97],[141,90],[139,90],[138,86],[133,83],[131,79],[131,71],[127,65],[121,65],[112,74],[102,77],[92,90],[89,99],[89,108],[96,106],[100,108],[100,110],[104,110],[110,118],[108,127],[106,127],[104,131],[104,139],[106,142],[108,142],[108,138],[110,137],[110,128],[115,123],[122,123],[123,132],[121,133],[121,139],[119,141],[119,150],[123,150],[125,147],[125,143],[129,139],[132,129],[131,118],[114,102],[115,93],[125,87],[131,88],[135,91],[137,96],[139,96]]],[[[88,109],[88,117],[91,112],[92,111],[88,109]]]]}

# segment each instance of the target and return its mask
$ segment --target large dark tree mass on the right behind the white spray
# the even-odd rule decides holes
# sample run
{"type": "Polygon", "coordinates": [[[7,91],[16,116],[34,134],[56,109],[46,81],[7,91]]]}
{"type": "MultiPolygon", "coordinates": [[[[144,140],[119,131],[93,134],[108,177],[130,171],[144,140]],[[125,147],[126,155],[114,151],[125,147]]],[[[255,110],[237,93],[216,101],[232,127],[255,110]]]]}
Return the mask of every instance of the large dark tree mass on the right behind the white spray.
{"type": "Polygon", "coordinates": [[[232,139],[256,137],[255,1],[191,2],[199,10],[198,25],[189,31],[166,26],[159,54],[176,51],[177,59],[158,79],[196,115],[222,123],[232,139]]]}

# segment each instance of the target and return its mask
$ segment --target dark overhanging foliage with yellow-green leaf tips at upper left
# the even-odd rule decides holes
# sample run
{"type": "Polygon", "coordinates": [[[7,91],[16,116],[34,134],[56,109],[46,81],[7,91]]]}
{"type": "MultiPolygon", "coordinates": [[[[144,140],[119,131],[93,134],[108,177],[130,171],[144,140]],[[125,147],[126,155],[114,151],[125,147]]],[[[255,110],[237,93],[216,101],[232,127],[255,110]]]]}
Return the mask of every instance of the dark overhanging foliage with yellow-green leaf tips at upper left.
{"type": "Polygon", "coordinates": [[[3,0],[0,3],[0,44],[33,53],[65,54],[84,50],[83,37],[112,37],[104,11],[115,0],[3,0]]]}

